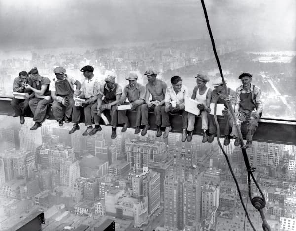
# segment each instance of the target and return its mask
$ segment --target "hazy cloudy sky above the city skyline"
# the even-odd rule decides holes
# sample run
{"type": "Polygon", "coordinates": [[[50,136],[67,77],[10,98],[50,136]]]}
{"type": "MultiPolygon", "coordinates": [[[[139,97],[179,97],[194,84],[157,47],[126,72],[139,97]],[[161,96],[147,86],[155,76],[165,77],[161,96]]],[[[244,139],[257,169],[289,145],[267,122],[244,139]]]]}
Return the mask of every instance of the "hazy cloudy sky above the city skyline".
{"type": "MultiPolygon", "coordinates": [[[[296,0],[205,0],[215,38],[295,41],[296,0]]],[[[200,0],[0,0],[0,49],[208,37],[200,0]]]]}

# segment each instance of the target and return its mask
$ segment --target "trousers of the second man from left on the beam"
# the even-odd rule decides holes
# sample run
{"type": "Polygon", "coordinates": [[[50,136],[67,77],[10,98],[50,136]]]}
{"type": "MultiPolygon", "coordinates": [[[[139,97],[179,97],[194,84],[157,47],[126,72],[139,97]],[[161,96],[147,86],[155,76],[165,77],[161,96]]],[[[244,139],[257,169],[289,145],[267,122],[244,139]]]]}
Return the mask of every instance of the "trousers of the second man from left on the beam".
{"type": "Polygon", "coordinates": [[[37,123],[43,122],[46,116],[47,107],[51,102],[52,102],[52,99],[46,100],[46,99],[39,99],[36,97],[34,97],[29,101],[29,107],[34,115],[33,121],[37,123]]]}

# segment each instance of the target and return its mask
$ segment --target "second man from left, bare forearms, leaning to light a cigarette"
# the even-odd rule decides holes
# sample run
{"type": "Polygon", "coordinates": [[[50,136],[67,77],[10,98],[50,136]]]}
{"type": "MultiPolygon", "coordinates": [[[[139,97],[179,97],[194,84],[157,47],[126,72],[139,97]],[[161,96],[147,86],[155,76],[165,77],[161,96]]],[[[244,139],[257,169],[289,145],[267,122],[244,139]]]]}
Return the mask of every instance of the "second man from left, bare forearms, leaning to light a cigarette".
{"type": "Polygon", "coordinates": [[[49,103],[52,102],[49,91],[50,79],[40,76],[36,67],[32,68],[28,74],[32,80],[32,86],[26,84],[25,89],[34,92],[34,97],[29,101],[29,107],[34,115],[33,121],[35,121],[35,124],[30,130],[36,130],[49,118],[49,115],[46,115],[46,111],[49,103]]]}

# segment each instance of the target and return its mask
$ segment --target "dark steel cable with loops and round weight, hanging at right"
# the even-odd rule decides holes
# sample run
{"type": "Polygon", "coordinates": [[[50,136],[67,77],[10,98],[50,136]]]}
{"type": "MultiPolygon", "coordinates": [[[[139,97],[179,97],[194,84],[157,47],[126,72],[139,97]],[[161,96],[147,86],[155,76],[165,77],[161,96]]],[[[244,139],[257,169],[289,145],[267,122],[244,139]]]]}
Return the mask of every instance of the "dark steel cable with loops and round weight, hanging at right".
{"type": "MultiPolygon", "coordinates": [[[[219,61],[219,57],[218,57],[218,54],[217,54],[217,51],[216,51],[216,46],[215,46],[215,41],[214,41],[214,38],[213,38],[213,34],[212,34],[212,30],[211,30],[211,26],[210,26],[210,22],[209,22],[209,18],[208,18],[208,14],[207,14],[207,9],[206,9],[206,6],[205,6],[205,3],[204,3],[204,0],[201,0],[201,4],[202,4],[202,7],[203,7],[203,11],[204,11],[204,14],[205,14],[205,19],[206,19],[206,23],[207,23],[207,28],[208,28],[208,31],[209,31],[209,35],[210,35],[210,39],[211,39],[211,42],[212,42],[212,47],[213,47],[213,52],[214,52],[214,55],[215,55],[215,58],[216,58],[216,61],[217,61],[217,65],[218,65],[218,68],[219,68],[219,72],[220,72],[220,76],[222,78],[222,82],[223,82],[223,87],[224,87],[224,90],[225,92],[228,92],[227,91],[227,87],[226,87],[226,83],[225,83],[225,80],[224,80],[224,77],[223,77],[223,73],[222,73],[222,68],[221,68],[221,64],[220,64],[220,61],[219,61]]],[[[226,102],[226,105],[227,105],[227,108],[228,110],[230,111],[231,113],[231,116],[233,117],[234,121],[237,121],[237,117],[234,113],[234,110],[232,108],[232,105],[230,104],[230,101],[229,101],[229,98],[228,99],[225,99],[225,102],[226,102]]],[[[240,189],[239,189],[239,185],[237,183],[237,180],[236,180],[236,177],[232,171],[232,167],[231,167],[231,163],[228,159],[228,156],[225,152],[225,150],[223,149],[221,143],[220,143],[220,140],[219,140],[219,137],[220,137],[220,127],[219,127],[219,123],[217,121],[217,115],[216,115],[216,109],[217,109],[217,102],[215,103],[215,108],[214,108],[214,119],[215,119],[215,123],[217,125],[217,141],[218,141],[218,145],[219,147],[221,148],[225,158],[226,158],[226,161],[228,163],[228,166],[229,166],[229,169],[230,169],[230,172],[233,176],[233,179],[236,183],[236,187],[237,187],[237,190],[239,192],[239,195],[240,195],[240,200],[241,200],[241,203],[243,205],[243,208],[244,208],[244,211],[246,213],[246,216],[248,218],[248,221],[250,223],[250,225],[252,226],[253,230],[256,231],[253,223],[251,222],[251,219],[249,217],[249,214],[248,214],[248,211],[245,207],[245,204],[244,204],[244,201],[242,200],[242,197],[241,197],[241,193],[240,193],[240,189]]],[[[253,175],[253,172],[255,171],[255,168],[251,168],[250,166],[250,162],[249,162],[249,158],[248,158],[248,155],[247,155],[247,152],[246,152],[246,147],[244,146],[244,141],[243,141],[243,136],[242,136],[242,133],[241,133],[241,130],[240,130],[240,126],[235,123],[235,126],[238,130],[238,138],[240,140],[240,144],[241,144],[241,150],[242,150],[242,153],[243,153],[243,157],[244,157],[244,162],[245,162],[245,165],[246,165],[246,168],[247,168],[247,172],[248,172],[248,194],[249,194],[249,198],[250,198],[250,201],[252,203],[252,205],[260,212],[260,216],[261,216],[261,219],[262,219],[262,228],[263,228],[263,231],[271,231],[271,228],[269,226],[269,224],[267,223],[267,220],[264,216],[264,211],[263,211],[263,208],[265,207],[265,204],[266,204],[266,201],[265,201],[265,197],[264,197],[264,194],[262,192],[262,190],[260,189],[254,175],[253,175]],[[251,177],[253,179],[253,182],[255,183],[257,189],[259,190],[260,194],[261,194],[261,197],[260,196],[255,196],[252,198],[252,193],[251,193],[251,177]]]]}

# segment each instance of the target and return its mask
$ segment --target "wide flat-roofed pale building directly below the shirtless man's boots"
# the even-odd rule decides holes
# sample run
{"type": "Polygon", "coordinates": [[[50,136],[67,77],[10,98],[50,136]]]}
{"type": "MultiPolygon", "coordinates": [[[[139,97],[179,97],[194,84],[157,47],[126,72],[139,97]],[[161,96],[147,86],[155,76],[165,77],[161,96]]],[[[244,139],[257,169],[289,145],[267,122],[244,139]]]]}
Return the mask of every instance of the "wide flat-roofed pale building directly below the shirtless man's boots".
{"type": "Polygon", "coordinates": [[[126,158],[133,171],[150,162],[162,161],[166,157],[167,146],[163,142],[139,139],[126,142],[126,158]]]}

